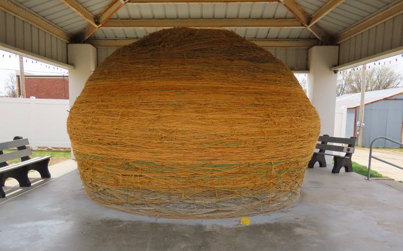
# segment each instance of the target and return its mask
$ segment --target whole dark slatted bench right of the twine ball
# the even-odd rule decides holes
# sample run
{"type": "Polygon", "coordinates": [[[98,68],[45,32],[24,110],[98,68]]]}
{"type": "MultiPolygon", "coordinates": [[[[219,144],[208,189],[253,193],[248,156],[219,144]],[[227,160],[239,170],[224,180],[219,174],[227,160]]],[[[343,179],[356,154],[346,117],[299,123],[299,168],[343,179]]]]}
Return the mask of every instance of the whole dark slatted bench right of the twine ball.
{"type": "Polygon", "coordinates": [[[348,138],[336,138],[336,137],[329,137],[328,135],[319,136],[318,141],[320,144],[316,144],[316,149],[319,149],[319,152],[313,153],[311,160],[308,163],[308,168],[313,168],[313,165],[316,162],[319,162],[320,167],[326,167],[326,160],[324,158],[325,155],[333,156],[333,169],[331,170],[332,173],[340,173],[340,169],[342,167],[345,168],[346,172],[353,171],[353,164],[351,163],[351,157],[354,153],[354,146],[356,145],[357,138],[350,137],[348,138]],[[327,143],[339,143],[339,144],[347,144],[347,147],[344,146],[334,146],[334,145],[327,145],[327,143]],[[325,153],[326,150],[346,153],[344,156],[334,155],[334,154],[327,154],[325,153]]]}

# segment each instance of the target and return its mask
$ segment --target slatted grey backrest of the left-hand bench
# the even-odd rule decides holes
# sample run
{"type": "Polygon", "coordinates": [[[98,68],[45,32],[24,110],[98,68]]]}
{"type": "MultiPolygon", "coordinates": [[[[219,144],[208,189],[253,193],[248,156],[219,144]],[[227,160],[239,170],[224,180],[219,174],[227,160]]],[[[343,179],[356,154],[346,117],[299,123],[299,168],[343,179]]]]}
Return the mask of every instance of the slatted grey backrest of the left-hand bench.
{"type": "Polygon", "coordinates": [[[0,143],[0,167],[8,166],[6,161],[15,160],[21,158],[21,161],[29,160],[29,155],[32,154],[32,150],[26,146],[29,145],[28,139],[16,136],[13,141],[0,143]],[[3,150],[17,148],[18,151],[4,154],[3,150]]]}

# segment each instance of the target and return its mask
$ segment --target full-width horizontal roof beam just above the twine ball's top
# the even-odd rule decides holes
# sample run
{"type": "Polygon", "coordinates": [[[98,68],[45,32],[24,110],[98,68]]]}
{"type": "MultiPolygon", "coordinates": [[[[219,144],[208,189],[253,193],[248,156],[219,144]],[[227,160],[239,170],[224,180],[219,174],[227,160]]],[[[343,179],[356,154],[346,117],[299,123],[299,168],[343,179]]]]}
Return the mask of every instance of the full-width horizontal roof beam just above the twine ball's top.
{"type": "Polygon", "coordinates": [[[103,28],[301,28],[296,19],[110,19],[103,28]]]}

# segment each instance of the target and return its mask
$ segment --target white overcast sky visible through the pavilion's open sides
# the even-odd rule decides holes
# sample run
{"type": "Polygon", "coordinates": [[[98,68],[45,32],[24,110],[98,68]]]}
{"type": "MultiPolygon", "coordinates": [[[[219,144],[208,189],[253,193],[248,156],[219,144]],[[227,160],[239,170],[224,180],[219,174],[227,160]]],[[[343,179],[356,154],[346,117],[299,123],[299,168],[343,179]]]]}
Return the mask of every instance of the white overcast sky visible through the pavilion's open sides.
{"type": "MultiPolygon", "coordinates": [[[[403,57],[401,57],[401,55],[376,61],[376,64],[378,65],[379,62],[381,64],[385,63],[386,66],[390,66],[396,72],[403,75],[403,57]],[[395,61],[396,58],[397,62],[395,61]],[[389,64],[390,60],[392,60],[392,62],[389,64]]],[[[369,65],[373,66],[374,64],[371,63],[369,65]]],[[[7,81],[9,74],[11,73],[15,75],[16,70],[20,70],[18,57],[15,54],[0,50],[0,95],[5,93],[5,82],[7,81]]],[[[24,71],[26,73],[37,75],[68,74],[68,70],[66,69],[29,58],[24,58],[24,71]]],[[[296,74],[296,77],[298,81],[301,81],[306,78],[306,74],[296,74]]]]}

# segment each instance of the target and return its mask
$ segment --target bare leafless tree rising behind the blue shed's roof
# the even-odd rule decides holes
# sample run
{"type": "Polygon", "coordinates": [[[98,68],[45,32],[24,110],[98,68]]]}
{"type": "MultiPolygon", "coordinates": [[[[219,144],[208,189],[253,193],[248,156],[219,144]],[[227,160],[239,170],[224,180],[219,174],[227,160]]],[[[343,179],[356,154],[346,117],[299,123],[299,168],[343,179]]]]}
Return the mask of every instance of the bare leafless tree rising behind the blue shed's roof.
{"type": "MultiPolygon", "coordinates": [[[[361,92],[362,69],[338,76],[337,95],[361,92]]],[[[396,88],[403,84],[403,77],[383,65],[367,69],[365,91],[396,88]]]]}

